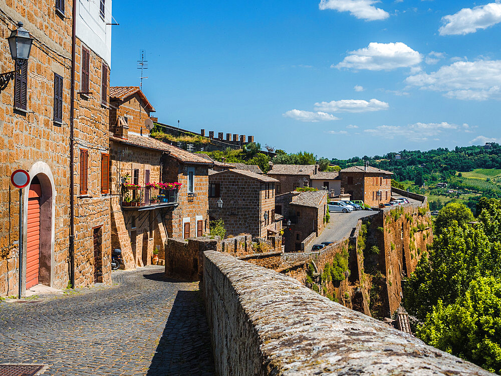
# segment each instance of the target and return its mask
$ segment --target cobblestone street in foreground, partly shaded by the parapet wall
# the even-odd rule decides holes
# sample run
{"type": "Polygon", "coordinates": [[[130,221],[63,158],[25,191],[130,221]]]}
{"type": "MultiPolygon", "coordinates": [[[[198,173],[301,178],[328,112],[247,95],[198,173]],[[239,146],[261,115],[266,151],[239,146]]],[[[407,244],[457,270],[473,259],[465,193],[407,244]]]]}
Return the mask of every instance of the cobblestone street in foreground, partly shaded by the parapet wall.
{"type": "Polygon", "coordinates": [[[0,362],[50,364],[44,376],[214,374],[198,285],[162,271],[117,271],[116,286],[0,302],[0,362]]]}

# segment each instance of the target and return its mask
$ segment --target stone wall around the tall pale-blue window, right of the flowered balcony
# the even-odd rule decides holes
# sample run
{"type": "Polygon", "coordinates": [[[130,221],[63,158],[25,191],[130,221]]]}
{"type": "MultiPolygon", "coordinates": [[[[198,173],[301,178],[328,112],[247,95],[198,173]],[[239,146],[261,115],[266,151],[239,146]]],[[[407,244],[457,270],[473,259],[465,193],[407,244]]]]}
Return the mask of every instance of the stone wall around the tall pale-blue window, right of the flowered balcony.
{"type": "Polygon", "coordinates": [[[178,181],[182,183],[177,202],[179,206],[166,215],[167,235],[169,238],[183,237],[183,219],[189,218],[190,237],[196,237],[196,217],[202,217],[203,234],[209,233],[208,220],[208,167],[204,165],[181,163],[173,157],[166,156],[163,165],[162,181],[178,181]],[[194,168],[195,197],[188,197],[188,168],[194,168]]]}

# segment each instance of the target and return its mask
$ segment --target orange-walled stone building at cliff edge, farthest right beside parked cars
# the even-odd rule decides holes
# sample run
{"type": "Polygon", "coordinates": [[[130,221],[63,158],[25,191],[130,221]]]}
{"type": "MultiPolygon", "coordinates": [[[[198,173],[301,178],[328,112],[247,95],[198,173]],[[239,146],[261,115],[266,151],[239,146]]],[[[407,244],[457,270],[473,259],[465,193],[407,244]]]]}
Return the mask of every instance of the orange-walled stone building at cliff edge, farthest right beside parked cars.
{"type": "Polygon", "coordinates": [[[341,187],[351,200],[361,200],[373,208],[391,201],[392,175],[393,172],[367,165],[348,167],[339,173],[341,187]]]}

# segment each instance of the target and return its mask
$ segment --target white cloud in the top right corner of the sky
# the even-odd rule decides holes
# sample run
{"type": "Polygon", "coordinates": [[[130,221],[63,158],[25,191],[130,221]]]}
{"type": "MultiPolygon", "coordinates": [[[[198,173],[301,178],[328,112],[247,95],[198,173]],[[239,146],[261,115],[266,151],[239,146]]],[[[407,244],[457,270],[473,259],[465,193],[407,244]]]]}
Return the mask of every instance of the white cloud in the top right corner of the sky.
{"type": "Polygon", "coordinates": [[[440,35],[465,35],[501,22],[501,4],[490,3],[442,17],[440,35]]]}

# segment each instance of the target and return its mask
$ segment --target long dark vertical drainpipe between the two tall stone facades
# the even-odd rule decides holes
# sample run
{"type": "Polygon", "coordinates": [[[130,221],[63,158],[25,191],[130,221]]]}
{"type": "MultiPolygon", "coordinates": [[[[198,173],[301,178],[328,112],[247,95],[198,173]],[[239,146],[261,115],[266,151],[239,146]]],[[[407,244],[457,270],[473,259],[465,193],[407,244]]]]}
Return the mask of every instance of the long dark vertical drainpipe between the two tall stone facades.
{"type": "Polygon", "coordinates": [[[75,189],[73,177],[74,164],[74,115],[75,115],[75,50],[76,50],[76,25],[77,19],[77,0],[73,0],[72,10],[72,30],[71,30],[71,78],[70,78],[70,283],[75,288],[75,189]]]}

